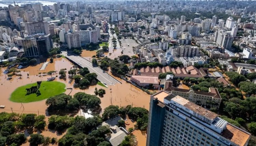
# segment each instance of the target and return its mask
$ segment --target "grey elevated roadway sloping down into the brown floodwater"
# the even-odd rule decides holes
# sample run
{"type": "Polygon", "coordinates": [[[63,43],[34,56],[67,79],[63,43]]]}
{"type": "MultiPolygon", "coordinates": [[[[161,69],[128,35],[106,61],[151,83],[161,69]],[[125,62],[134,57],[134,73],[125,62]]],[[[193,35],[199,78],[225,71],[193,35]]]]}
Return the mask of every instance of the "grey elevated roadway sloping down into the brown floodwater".
{"type": "Polygon", "coordinates": [[[114,77],[112,77],[111,75],[109,75],[108,73],[103,71],[101,68],[99,68],[97,66],[93,66],[89,60],[87,60],[81,56],[71,55],[65,51],[62,51],[62,54],[65,55],[71,61],[75,62],[80,67],[88,68],[90,73],[96,73],[98,75],[97,79],[99,81],[101,81],[101,83],[106,83],[107,86],[119,83],[119,81],[117,81],[114,77]]]}

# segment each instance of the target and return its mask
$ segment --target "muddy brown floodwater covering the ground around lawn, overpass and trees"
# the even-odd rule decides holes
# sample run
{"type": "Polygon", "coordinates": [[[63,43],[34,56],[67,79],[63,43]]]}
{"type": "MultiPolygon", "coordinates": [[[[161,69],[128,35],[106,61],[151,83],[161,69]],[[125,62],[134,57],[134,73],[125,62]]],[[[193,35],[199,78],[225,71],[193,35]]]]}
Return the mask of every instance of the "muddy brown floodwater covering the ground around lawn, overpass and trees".
{"type": "MultiPolygon", "coordinates": [[[[48,60],[44,60],[49,61],[48,60]]],[[[3,74],[3,71],[6,68],[1,68],[0,70],[0,105],[5,105],[4,109],[0,109],[0,112],[16,112],[16,113],[35,113],[35,114],[43,114],[46,115],[46,118],[48,118],[46,109],[47,106],[45,105],[46,99],[38,102],[31,102],[31,103],[14,103],[9,101],[11,93],[18,87],[24,86],[26,84],[35,83],[36,81],[41,80],[47,80],[47,78],[50,78],[51,76],[38,76],[38,73],[41,72],[48,72],[51,70],[59,71],[60,69],[66,68],[67,71],[73,67],[73,64],[68,61],[66,58],[55,58],[53,63],[48,63],[45,70],[40,70],[40,68],[43,65],[43,62],[36,65],[36,66],[30,66],[25,69],[20,69],[20,74],[22,74],[22,78],[18,79],[17,76],[13,76],[11,80],[7,80],[7,75],[3,74]],[[27,77],[27,73],[29,73],[29,77],[27,77]],[[24,109],[23,109],[23,106],[24,109]]],[[[55,75],[58,75],[56,73],[55,75]]],[[[67,73],[68,76],[68,73],[67,73]]],[[[111,85],[108,88],[102,87],[100,85],[94,85],[90,86],[88,89],[80,90],[78,88],[71,90],[66,90],[66,94],[74,95],[77,92],[85,92],[87,94],[94,94],[95,87],[98,89],[102,88],[105,89],[106,94],[101,99],[101,108],[102,111],[104,111],[104,108],[108,107],[109,105],[117,105],[117,106],[127,106],[132,105],[134,107],[144,107],[145,109],[149,109],[149,102],[150,102],[150,95],[148,95],[146,92],[138,89],[137,87],[126,83],[126,81],[115,77],[118,79],[122,84],[117,83],[115,85],[111,85]]],[[[69,79],[66,81],[59,79],[58,77],[55,79],[55,81],[60,81],[61,83],[64,83],[66,85],[66,88],[73,88],[73,82],[69,84],[69,79]]],[[[51,91],[49,91],[51,92],[51,91]]],[[[47,120],[46,120],[47,121],[47,120]]],[[[45,130],[42,132],[44,136],[49,137],[55,137],[55,138],[61,138],[63,134],[58,135],[56,132],[52,132],[49,130],[45,130]]],[[[137,136],[137,139],[139,141],[139,146],[144,146],[145,143],[145,135],[142,135],[141,131],[134,131],[134,135],[137,136]],[[138,134],[136,134],[138,132],[138,134]]],[[[28,143],[24,144],[23,146],[28,146],[28,143]]]]}

